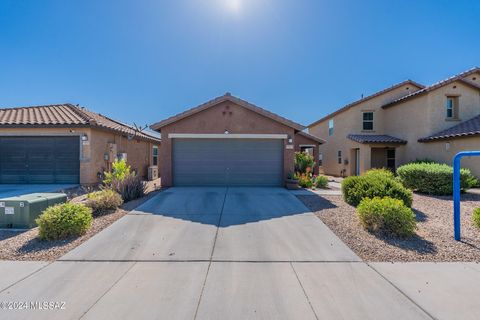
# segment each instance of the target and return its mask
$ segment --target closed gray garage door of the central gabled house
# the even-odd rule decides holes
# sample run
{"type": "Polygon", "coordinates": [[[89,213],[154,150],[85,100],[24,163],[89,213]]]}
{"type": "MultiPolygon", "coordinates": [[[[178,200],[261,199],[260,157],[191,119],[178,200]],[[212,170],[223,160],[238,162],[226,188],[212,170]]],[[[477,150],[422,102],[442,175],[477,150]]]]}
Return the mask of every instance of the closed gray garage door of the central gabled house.
{"type": "Polygon", "coordinates": [[[174,139],[175,186],[281,186],[283,140],[174,139]]]}

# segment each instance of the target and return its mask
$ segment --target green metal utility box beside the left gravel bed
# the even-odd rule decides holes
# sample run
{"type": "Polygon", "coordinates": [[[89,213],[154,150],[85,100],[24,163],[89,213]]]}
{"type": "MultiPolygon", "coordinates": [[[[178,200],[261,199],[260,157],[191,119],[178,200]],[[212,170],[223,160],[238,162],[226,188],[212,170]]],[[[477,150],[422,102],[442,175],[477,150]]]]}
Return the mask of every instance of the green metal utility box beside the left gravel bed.
{"type": "Polygon", "coordinates": [[[64,193],[31,193],[0,199],[0,228],[34,228],[35,219],[43,210],[66,201],[64,193]]]}

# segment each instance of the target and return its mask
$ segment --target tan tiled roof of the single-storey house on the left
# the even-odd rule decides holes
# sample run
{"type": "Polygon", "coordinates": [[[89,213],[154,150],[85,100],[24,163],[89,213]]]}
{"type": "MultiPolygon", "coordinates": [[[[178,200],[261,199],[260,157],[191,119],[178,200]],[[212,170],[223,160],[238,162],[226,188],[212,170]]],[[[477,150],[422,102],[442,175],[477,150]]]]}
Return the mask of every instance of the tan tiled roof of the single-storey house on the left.
{"type": "Polygon", "coordinates": [[[160,142],[158,137],[69,103],[0,109],[0,127],[92,127],[160,142]]]}

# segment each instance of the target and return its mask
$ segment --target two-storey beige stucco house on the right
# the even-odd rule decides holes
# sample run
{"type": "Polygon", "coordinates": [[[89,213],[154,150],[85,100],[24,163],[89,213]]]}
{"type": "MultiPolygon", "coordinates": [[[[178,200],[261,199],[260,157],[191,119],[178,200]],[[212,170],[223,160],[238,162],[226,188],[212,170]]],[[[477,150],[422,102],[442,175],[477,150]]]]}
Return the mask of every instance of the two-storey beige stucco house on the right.
{"type": "MultiPolygon", "coordinates": [[[[480,68],[424,87],[411,80],[351,103],[308,126],[325,140],[321,169],[358,175],[430,158],[451,164],[462,150],[480,149],[480,68]]],[[[462,165],[480,176],[480,160],[462,165]]]]}

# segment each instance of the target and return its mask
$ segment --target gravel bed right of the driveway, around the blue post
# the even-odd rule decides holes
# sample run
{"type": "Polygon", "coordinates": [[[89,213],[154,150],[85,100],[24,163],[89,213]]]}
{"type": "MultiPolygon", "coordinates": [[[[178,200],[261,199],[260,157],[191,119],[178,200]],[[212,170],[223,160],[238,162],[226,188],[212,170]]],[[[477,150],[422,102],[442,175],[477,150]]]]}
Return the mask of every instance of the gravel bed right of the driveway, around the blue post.
{"type": "Polygon", "coordinates": [[[341,196],[298,196],[343,242],[365,261],[475,261],[480,262],[480,230],[471,222],[480,207],[480,194],[462,195],[462,242],[453,239],[451,197],[414,194],[416,235],[406,239],[372,235],[365,231],[355,208],[341,196]]]}

